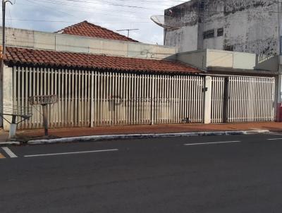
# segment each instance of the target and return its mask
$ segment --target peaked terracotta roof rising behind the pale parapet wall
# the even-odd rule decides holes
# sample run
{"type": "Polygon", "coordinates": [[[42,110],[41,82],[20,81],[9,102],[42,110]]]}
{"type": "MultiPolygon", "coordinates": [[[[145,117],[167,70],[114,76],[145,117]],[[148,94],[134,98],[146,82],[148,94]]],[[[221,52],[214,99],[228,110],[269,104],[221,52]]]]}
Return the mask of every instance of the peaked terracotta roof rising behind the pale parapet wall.
{"type": "Polygon", "coordinates": [[[59,30],[58,33],[87,37],[99,37],[103,39],[114,39],[126,42],[137,42],[136,40],[125,37],[124,35],[118,34],[117,32],[89,23],[86,20],[82,21],[81,23],[71,25],[67,28],[63,28],[62,30],[59,30]]]}

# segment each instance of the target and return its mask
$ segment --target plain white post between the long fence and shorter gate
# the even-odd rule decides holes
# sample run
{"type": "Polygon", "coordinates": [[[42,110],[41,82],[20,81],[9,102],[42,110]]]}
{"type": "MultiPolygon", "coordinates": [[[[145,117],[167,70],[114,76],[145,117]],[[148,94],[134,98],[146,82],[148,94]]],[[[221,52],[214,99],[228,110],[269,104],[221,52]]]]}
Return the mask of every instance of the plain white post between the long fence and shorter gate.
{"type": "Polygon", "coordinates": [[[204,123],[212,121],[212,77],[204,78],[204,123]]]}

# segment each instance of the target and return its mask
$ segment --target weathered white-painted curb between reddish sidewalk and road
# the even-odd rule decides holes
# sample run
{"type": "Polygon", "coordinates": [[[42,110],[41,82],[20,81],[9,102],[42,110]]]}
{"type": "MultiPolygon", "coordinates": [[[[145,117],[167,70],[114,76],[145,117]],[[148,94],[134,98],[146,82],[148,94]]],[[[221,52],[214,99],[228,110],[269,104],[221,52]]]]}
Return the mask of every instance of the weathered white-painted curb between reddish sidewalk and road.
{"type": "Polygon", "coordinates": [[[47,145],[47,144],[66,143],[66,142],[90,142],[90,141],[93,142],[93,141],[102,141],[102,140],[142,139],[142,138],[175,138],[175,137],[212,136],[212,135],[248,135],[248,134],[256,134],[256,133],[269,133],[269,130],[128,134],[128,135],[92,135],[92,136],[73,137],[73,138],[58,138],[58,139],[50,139],[50,140],[30,140],[27,141],[27,145],[47,145]]]}

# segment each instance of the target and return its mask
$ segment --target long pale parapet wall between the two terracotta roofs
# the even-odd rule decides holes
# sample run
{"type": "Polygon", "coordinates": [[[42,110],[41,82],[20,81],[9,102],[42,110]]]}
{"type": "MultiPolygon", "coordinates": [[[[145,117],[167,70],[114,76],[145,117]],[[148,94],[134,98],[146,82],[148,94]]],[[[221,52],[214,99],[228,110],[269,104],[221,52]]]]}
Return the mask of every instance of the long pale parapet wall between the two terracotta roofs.
{"type": "MultiPolygon", "coordinates": [[[[0,37],[1,36],[0,33],[0,37]]],[[[176,54],[175,47],[63,35],[16,28],[7,28],[6,44],[11,47],[73,51],[146,59],[164,59],[172,54],[176,54]]]]}

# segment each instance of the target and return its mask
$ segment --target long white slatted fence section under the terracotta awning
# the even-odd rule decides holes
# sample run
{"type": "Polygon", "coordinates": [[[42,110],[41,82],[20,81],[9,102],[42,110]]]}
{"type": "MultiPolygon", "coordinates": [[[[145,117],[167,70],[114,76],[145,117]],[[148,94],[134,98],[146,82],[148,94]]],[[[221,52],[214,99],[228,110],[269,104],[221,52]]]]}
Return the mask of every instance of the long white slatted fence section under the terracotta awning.
{"type": "MultiPolygon", "coordinates": [[[[204,77],[13,67],[13,103],[58,95],[49,126],[202,123],[204,77]]],[[[41,106],[18,128],[42,128],[41,106]]]]}

